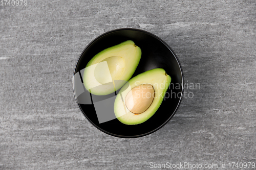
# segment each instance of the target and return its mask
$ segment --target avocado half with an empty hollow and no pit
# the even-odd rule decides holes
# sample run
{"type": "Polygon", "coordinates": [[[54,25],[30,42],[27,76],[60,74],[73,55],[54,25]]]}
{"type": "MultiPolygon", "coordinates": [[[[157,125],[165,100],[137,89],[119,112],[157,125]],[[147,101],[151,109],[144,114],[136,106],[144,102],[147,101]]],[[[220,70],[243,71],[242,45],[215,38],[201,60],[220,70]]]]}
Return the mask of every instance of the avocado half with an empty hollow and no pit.
{"type": "Polygon", "coordinates": [[[95,95],[113,93],[131,79],[140,58],[141,50],[132,40],[106,48],[84,69],[84,87],[95,95]]]}

